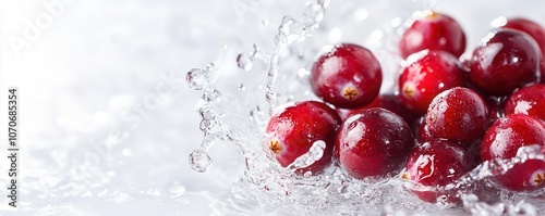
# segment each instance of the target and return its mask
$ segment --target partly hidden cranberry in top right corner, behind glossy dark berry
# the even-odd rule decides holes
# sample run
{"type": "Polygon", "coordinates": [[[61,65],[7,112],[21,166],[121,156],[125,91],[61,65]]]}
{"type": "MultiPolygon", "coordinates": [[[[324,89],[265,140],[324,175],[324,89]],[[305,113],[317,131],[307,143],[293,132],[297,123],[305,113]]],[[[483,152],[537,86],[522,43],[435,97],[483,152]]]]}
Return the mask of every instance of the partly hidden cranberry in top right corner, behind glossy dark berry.
{"type": "Polygon", "coordinates": [[[542,82],[545,84],[545,28],[542,25],[523,17],[508,18],[507,23],[501,27],[521,30],[534,38],[542,51],[543,59],[541,72],[542,82]]]}

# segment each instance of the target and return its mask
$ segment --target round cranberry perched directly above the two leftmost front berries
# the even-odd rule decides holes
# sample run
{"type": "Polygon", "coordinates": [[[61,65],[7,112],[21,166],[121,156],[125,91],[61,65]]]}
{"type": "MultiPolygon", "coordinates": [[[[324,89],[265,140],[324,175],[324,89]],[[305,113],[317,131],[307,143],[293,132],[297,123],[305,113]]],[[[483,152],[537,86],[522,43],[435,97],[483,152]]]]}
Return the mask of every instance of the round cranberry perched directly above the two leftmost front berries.
{"type": "Polygon", "coordinates": [[[364,106],[378,96],[383,71],[367,49],[340,43],[324,52],[311,69],[313,92],[340,109],[364,106]]]}

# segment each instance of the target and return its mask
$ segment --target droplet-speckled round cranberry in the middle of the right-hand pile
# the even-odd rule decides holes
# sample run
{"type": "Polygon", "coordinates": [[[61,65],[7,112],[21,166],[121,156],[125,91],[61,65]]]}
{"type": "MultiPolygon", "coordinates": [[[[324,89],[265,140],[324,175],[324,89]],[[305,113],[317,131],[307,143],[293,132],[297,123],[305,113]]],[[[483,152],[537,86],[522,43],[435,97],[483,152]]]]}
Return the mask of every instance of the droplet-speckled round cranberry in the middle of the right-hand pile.
{"type": "Polygon", "coordinates": [[[469,147],[488,124],[488,105],[479,93],[456,87],[434,98],[427,110],[426,124],[433,137],[469,147]]]}

